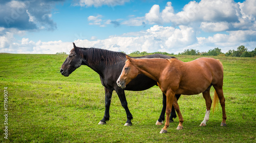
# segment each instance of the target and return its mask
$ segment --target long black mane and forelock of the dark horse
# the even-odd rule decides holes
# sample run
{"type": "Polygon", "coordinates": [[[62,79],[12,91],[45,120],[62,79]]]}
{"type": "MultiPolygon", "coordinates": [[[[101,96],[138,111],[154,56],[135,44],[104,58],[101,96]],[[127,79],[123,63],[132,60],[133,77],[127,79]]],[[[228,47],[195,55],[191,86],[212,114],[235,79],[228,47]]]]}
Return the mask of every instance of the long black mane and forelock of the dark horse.
{"type": "MultiPolygon", "coordinates": [[[[94,47],[77,47],[77,49],[80,57],[86,59],[86,61],[90,65],[98,65],[100,64],[100,62],[104,62],[105,65],[114,65],[115,63],[126,60],[126,54],[122,52],[110,51],[94,47]]],[[[72,49],[70,52],[72,52],[73,50],[74,49],[72,49]]]]}

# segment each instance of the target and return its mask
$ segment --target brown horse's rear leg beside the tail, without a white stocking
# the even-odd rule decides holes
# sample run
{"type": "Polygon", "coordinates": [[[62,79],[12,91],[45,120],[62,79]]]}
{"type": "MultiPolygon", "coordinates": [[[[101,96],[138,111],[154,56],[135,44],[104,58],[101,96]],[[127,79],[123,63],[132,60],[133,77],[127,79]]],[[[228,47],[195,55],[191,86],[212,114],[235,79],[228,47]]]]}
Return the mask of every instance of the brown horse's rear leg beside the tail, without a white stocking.
{"type": "Polygon", "coordinates": [[[226,126],[226,120],[227,120],[227,116],[226,116],[226,110],[225,110],[225,98],[223,96],[223,89],[222,86],[218,87],[217,85],[215,86],[215,91],[220,99],[220,103],[221,103],[221,107],[222,107],[222,122],[221,122],[221,126],[226,126]]]}

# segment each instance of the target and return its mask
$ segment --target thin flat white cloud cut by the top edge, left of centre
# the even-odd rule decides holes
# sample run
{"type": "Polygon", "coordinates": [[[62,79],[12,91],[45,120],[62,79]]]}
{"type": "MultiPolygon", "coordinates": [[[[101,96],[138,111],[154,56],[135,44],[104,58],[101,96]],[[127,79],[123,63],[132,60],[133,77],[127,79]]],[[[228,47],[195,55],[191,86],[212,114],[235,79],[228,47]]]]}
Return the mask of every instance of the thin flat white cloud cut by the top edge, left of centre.
{"type": "Polygon", "coordinates": [[[102,5],[114,7],[117,5],[123,5],[127,2],[130,2],[130,0],[79,0],[76,5],[80,5],[81,7],[101,7],[102,5]]]}

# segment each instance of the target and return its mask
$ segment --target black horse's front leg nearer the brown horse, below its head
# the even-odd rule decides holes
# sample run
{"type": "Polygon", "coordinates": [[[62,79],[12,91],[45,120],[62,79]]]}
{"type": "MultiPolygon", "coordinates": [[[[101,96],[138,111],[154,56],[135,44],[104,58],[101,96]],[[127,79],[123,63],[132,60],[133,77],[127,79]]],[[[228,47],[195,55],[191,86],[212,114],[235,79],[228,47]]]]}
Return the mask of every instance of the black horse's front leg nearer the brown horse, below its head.
{"type": "Polygon", "coordinates": [[[124,126],[132,126],[132,122],[131,120],[133,119],[133,116],[132,116],[132,113],[130,112],[129,108],[128,108],[128,104],[127,104],[127,101],[126,101],[126,98],[125,98],[125,94],[124,94],[124,90],[121,89],[121,88],[116,88],[115,89],[120,101],[121,101],[121,104],[122,104],[122,107],[124,108],[125,112],[126,112],[126,115],[127,115],[127,121],[126,123],[124,124],[124,126]]]}

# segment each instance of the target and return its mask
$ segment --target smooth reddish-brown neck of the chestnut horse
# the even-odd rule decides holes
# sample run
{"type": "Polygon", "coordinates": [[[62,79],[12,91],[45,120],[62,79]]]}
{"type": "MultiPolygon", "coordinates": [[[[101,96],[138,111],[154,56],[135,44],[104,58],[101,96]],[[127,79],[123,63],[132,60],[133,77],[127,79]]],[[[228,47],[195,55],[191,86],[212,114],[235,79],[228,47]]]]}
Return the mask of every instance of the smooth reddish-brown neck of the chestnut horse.
{"type": "Polygon", "coordinates": [[[161,71],[164,70],[168,61],[165,59],[139,59],[136,64],[141,73],[158,81],[161,71]]]}

